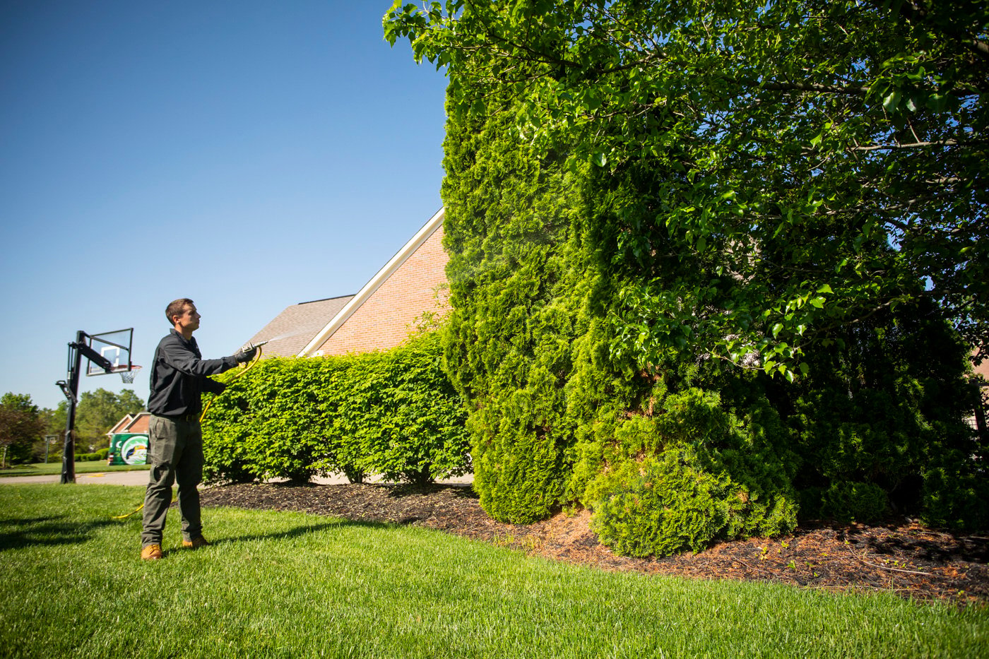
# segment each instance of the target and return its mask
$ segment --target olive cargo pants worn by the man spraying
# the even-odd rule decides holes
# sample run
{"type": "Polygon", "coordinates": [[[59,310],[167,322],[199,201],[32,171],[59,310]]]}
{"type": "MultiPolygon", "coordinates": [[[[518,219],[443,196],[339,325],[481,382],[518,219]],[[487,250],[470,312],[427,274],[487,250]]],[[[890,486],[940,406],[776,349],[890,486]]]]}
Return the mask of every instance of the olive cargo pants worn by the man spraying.
{"type": "Polygon", "coordinates": [[[182,538],[192,540],[203,534],[199,490],[203,481],[203,432],[196,416],[193,421],[152,415],[148,427],[147,461],[151,465],[144,492],[143,529],[140,546],[161,544],[165,516],[172,503],[172,484],[179,484],[179,513],[182,538]]]}

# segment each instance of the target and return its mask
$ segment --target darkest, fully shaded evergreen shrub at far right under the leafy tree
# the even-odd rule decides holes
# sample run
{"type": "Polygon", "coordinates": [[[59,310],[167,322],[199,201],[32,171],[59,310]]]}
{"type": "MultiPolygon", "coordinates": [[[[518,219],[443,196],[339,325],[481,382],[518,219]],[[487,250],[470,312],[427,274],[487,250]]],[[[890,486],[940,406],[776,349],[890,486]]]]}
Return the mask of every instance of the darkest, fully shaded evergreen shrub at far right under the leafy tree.
{"type": "Polygon", "coordinates": [[[920,305],[835,338],[809,356],[810,377],[772,394],[789,411],[802,516],[986,528],[984,448],[964,422],[974,397],[957,333],[920,305]]]}

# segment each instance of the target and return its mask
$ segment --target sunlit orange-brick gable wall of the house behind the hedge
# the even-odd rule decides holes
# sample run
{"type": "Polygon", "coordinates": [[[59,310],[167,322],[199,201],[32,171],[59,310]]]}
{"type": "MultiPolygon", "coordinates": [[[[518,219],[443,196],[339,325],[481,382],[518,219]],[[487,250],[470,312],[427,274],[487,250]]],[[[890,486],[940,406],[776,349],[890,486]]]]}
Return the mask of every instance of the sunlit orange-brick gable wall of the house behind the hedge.
{"type": "MultiPolygon", "coordinates": [[[[440,226],[375,293],[319,346],[316,354],[345,354],[394,347],[423,312],[437,312],[437,287],[446,284],[440,226]]],[[[445,300],[443,291],[440,300],[445,300]]]]}

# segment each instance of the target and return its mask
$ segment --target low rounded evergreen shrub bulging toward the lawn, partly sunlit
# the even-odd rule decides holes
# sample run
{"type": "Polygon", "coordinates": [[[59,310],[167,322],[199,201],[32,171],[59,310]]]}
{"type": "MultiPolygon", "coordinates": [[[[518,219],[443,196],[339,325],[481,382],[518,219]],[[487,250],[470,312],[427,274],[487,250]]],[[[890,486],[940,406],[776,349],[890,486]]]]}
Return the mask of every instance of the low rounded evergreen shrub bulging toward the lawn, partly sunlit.
{"type": "Polygon", "coordinates": [[[713,540],[779,535],[796,526],[795,494],[768,423],[741,420],[720,396],[671,394],[652,419],[619,424],[584,491],[591,528],[618,553],[700,551],[713,540]]]}

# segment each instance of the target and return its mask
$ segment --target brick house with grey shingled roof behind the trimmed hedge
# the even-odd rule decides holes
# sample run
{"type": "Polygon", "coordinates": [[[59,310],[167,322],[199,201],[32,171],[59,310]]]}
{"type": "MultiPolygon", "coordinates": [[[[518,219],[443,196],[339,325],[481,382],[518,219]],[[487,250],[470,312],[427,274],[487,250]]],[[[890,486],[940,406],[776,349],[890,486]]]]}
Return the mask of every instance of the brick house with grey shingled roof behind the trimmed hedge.
{"type": "Polygon", "coordinates": [[[254,334],[265,355],[313,357],[394,347],[423,313],[443,313],[443,209],[354,295],[287,307],[254,334]]]}

